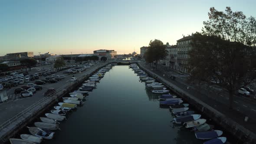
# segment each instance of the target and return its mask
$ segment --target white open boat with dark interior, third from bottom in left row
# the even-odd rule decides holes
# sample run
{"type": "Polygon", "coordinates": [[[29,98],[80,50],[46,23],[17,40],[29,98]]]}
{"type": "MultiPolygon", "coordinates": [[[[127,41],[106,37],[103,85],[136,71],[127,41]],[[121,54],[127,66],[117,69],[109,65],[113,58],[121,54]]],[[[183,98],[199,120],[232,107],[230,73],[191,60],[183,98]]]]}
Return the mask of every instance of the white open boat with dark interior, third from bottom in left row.
{"type": "Polygon", "coordinates": [[[33,134],[36,137],[42,137],[43,139],[52,139],[55,132],[51,132],[48,130],[42,130],[41,128],[37,127],[27,127],[29,128],[29,131],[31,134],[33,134]]]}

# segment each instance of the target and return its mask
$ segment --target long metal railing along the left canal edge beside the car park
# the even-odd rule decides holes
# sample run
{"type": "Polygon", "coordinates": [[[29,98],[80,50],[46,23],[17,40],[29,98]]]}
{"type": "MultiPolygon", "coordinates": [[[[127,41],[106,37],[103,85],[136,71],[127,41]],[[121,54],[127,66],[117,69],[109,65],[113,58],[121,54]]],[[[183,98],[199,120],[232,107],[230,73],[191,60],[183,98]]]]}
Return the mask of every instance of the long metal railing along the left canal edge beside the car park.
{"type": "MultiPolygon", "coordinates": [[[[104,66],[105,64],[102,64],[100,65],[98,68],[101,68],[102,66],[104,66]]],[[[97,69],[98,69],[97,68],[97,69]]],[[[83,79],[85,78],[86,76],[90,75],[92,72],[94,72],[95,70],[97,69],[90,69],[88,72],[89,74],[84,74],[84,75],[80,75],[76,81],[73,81],[73,82],[69,82],[65,85],[63,85],[62,87],[58,88],[55,92],[52,92],[50,93],[48,96],[40,99],[39,101],[36,101],[35,103],[33,103],[33,105],[30,105],[28,108],[24,109],[23,111],[21,111],[20,113],[16,114],[15,116],[13,116],[12,118],[10,118],[9,120],[7,120],[6,122],[4,122],[3,124],[0,125],[0,131],[3,130],[3,128],[6,128],[8,125],[10,125],[13,121],[17,121],[18,118],[22,117],[24,114],[26,114],[27,112],[29,112],[30,110],[32,110],[33,108],[35,108],[36,106],[44,106],[48,103],[45,103],[46,100],[49,100],[49,99],[53,99],[53,98],[56,98],[56,97],[53,97],[53,95],[55,95],[56,93],[60,92],[62,89],[64,89],[66,86],[72,84],[72,83],[76,83],[79,81],[79,79],[83,79]]],[[[3,141],[3,138],[2,136],[0,136],[0,139],[3,141]]],[[[5,142],[5,141],[3,141],[5,142]]]]}

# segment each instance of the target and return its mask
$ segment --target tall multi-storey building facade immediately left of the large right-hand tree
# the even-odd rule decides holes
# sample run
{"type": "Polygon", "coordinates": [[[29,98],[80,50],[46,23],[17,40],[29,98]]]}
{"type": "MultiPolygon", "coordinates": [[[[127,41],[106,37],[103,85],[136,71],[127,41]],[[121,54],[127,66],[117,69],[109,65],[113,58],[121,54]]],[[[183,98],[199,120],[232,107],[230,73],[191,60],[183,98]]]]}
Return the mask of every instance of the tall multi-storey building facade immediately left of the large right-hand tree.
{"type": "Polygon", "coordinates": [[[187,59],[189,58],[188,51],[192,49],[192,36],[183,36],[182,39],[177,40],[177,70],[187,72],[187,59]]]}

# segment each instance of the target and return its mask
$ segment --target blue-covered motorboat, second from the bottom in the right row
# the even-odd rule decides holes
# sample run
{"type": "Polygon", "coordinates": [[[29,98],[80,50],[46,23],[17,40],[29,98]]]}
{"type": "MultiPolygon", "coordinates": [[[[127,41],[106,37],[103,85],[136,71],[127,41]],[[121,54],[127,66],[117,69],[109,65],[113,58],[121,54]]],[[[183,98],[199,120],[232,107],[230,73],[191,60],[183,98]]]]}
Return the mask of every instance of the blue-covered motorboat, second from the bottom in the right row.
{"type": "Polygon", "coordinates": [[[200,140],[213,139],[221,136],[222,134],[223,134],[223,131],[220,131],[220,130],[195,132],[196,138],[200,140]]]}

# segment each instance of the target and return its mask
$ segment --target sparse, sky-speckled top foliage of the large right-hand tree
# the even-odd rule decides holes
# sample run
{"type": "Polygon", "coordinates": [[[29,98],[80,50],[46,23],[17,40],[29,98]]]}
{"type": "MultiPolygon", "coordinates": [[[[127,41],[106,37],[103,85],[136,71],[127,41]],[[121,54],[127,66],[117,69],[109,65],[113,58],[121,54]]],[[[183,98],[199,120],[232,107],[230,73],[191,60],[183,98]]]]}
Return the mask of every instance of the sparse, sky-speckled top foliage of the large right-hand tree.
{"type": "Polygon", "coordinates": [[[208,16],[209,20],[203,22],[203,34],[220,36],[224,40],[243,43],[247,46],[256,46],[254,17],[246,18],[243,12],[233,12],[230,7],[226,7],[225,12],[211,7],[208,16]]]}

